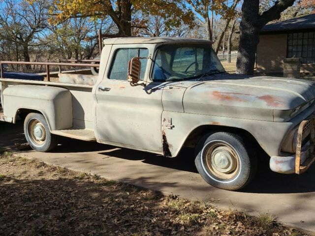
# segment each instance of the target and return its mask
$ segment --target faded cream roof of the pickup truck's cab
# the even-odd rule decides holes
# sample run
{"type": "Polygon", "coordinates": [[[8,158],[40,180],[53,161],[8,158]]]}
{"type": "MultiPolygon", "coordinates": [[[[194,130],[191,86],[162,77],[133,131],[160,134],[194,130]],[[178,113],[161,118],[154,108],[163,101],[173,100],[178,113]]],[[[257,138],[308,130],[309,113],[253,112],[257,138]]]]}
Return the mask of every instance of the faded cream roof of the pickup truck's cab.
{"type": "Polygon", "coordinates": [[[104,44],[212,43],[209,40],[171,37],[120,37],[103,39],[104,44]]]}

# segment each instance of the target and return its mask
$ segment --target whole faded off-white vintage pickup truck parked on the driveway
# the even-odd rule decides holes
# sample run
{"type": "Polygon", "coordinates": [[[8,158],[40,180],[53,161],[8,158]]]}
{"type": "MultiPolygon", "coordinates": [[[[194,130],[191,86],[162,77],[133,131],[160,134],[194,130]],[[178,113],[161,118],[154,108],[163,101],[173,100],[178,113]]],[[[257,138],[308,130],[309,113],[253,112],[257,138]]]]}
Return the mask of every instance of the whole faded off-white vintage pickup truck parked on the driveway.
{"type": "Polygon", "coordinates": [[[0,120],[26,116],[37,151],[58,148],[59,136],[167,157],[192,147],[205,181],[228,190],[251,181],[258,148],[275,172],[314,162],[315,84],[227,74],[206,40],[106,39],[98,76],[0,82],[0,120]]]}

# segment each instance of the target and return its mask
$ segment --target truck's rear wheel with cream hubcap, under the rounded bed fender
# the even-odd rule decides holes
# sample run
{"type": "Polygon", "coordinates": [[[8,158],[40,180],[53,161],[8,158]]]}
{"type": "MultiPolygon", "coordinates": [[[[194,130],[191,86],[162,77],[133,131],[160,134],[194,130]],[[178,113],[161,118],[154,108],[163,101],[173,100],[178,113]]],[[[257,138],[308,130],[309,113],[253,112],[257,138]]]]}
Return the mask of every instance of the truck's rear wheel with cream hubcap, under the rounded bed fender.
{"type": "Polygon", "coordinates": [[[47,152],[57,147],[57,136],[50,133],[48,124],[43,115],[30,113],[24,120],[24,133],[31,148],[47,152]]]}

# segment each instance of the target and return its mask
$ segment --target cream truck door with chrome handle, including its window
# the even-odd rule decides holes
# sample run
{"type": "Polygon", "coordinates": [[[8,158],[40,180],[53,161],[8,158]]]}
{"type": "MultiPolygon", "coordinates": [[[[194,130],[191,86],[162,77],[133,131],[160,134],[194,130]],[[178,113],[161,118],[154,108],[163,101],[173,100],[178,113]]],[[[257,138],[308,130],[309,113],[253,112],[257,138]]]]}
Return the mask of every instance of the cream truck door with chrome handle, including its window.
{"type": "MultiPolygon", "coordinates": [[[[95,94],[96,125],[101,143],[145,149],[161,153],[162,90],[130,86],[127,81],[128,61],[148,57],[150,47],[113,45],[103,80],[95,94]],[[120,145],[119,145],[120,144],[120,145]]],[[[141,78],[150,73],[151,61],[141,59],[141,78]]]]}

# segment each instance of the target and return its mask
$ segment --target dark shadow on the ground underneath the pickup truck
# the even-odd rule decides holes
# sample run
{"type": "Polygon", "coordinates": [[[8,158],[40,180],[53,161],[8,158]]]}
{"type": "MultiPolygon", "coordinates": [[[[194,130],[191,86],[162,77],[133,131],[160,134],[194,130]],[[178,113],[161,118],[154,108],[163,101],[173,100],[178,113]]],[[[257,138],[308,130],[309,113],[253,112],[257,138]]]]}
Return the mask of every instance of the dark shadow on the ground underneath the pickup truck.
{"type": "MultiPolygon", "coordinates": [[[[0,148],[12,150],[14,143],[25,142],[23,125],[0,122],[0,148]]],[[[170,168],[174,170],[197,173],[194,165],[192,149],[184,149],[178,157],[165,158],[161,155],[130,150],[126,148],[116,148],[113,146],[89,143],[78,140],[61,138],[60,146],[54,150],[55,153],[84,153],[96,151],[104,158],[111,156],[114,158],[131,161],[142,161],[143,163],[170,168]]],[[[308,193],[315,192],[315,166],[301,175],[284,175],[274,173],[269,169],[269,158],[266,155],[259,157],[259,166],[256,177],[240,192],[245,193],[308,193]]]]}

